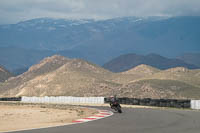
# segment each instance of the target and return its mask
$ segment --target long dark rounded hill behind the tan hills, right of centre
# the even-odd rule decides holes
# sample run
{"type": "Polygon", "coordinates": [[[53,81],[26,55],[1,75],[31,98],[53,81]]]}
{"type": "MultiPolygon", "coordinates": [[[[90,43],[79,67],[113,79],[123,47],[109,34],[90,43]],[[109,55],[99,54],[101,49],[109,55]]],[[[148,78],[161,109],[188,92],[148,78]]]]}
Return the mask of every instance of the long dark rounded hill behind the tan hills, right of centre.
{"type": "Polygon", "coordinates": [[[148,54],[146,56],[137,54],[121,55],[105,63],[103,68],[112,72],[123,72],[141,64],[149,65],[162,70],[174,67],[186,67],[189,69],[199,68],[195,65],[187,64],[180,59],[169,59],[158,54],[148,54]]]}

